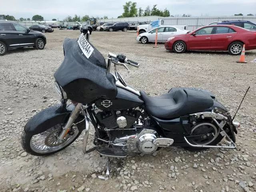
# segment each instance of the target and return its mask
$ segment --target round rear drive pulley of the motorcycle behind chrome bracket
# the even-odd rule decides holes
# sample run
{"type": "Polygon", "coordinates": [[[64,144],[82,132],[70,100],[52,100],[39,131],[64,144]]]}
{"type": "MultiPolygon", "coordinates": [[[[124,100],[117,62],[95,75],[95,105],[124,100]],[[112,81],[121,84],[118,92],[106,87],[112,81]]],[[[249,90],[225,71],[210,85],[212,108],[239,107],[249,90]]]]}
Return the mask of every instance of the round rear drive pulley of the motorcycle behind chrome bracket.
{"type": "Polygon", "coordinates": [[[194,126],[191,130],[191,135],[201,135],[200,138],[192,140],[197,145],[208,145],[218,137],[219,131],[211,123],[201,123],[194,126]]]}

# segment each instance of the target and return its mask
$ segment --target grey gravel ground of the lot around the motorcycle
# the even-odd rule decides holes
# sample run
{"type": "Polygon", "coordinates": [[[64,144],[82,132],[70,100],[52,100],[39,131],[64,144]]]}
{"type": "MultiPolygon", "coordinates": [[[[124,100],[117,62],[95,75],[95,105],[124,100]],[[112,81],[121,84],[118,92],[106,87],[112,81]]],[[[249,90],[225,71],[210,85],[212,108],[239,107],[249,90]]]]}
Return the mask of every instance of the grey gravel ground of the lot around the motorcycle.
{"type": "MultiPolygon", "coordinates": [[[[256,64],[238,64],[238,56],[227,52],[174,54],[163,44],[138,44],[136,32],[93,32],[90,38],[104,56],[123,53],[141,63],[130,72],[120,68],[126,82],[138,90],[154,96],[174,86],[208,89],[234,115],[251,86],[236,116],[241,123],[238,148],[188,152],[171,147],[153,155],[113,158],[107,181],[96,178],[105,171],[106,158],[95,151],[82,154],[82,136],[52,156],[26,154],[20,145],[22,129],[30,117],[58,103],[53,73],[63,60],[64,38],[77,38],[79,31],[55,30],[46,36],[44,50],[24,48],[0,57],[1,192],[256,191],[256,64]]],[[[246,60],[254,58],[256,51],[246,51],[246,60]]]]}

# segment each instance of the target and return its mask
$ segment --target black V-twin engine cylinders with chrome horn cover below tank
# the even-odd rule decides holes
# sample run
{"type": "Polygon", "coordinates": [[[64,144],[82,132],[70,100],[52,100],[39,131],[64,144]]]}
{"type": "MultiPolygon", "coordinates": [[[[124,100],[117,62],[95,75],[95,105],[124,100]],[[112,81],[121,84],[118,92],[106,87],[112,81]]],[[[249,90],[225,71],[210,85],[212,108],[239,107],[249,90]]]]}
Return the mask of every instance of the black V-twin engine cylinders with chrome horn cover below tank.
{"type": "Polygon", "coordinates": [[[106,129],[129,129],[140,117],[141,111],[136,109],[125,110],[94,110],[102,127],[106,129]]]}

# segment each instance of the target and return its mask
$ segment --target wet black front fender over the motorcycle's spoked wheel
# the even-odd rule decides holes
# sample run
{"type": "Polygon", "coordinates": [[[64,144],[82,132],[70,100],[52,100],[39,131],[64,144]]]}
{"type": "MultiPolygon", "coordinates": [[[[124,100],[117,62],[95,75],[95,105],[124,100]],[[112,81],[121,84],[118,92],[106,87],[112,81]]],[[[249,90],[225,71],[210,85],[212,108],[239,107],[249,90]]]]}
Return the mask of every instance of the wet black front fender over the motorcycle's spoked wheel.
{"type": "MultiPolygon", "coordinates": [[[[34,115],[24,126],[24,132],[27,134],[39,134],[48,128],[56,125],[56,122],[65,123],[72,112],[74,105],[57,104],[40,111],[34,115]]],[[[79,115],[77,119],[81,121],[84,116],[79,115]]],[[[81,126],[78,126],[78,128],[81,126]]],[[[84,128],[84,126],[82,126],[84,128]]]]}

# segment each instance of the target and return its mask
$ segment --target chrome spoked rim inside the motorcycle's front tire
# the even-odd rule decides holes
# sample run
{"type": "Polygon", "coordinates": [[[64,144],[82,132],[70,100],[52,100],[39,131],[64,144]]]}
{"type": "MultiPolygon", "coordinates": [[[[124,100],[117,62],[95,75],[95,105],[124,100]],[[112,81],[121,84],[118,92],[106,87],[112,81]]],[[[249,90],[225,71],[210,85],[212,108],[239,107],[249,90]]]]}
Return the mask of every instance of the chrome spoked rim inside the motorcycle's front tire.
{"type": "Polygon", "coordinates": [[[33,135],[30,140],[30,148],[36,153],[44,154],[58,151],[70,144],[78,135],[79,130],[77,126],[73,126],[70,130],[72,134],[69,132],[62,141],[58,141],[62,126],[64,126],[64,124],[57,124],[40,134],[33,135]]]}

